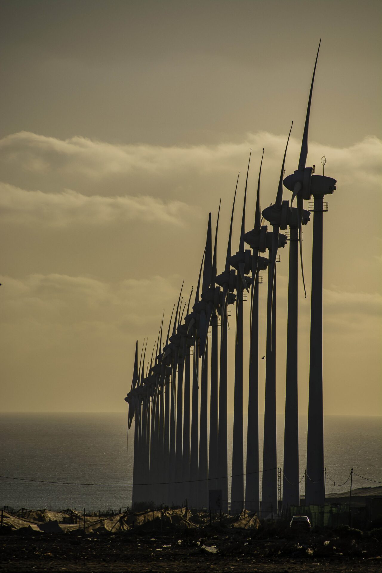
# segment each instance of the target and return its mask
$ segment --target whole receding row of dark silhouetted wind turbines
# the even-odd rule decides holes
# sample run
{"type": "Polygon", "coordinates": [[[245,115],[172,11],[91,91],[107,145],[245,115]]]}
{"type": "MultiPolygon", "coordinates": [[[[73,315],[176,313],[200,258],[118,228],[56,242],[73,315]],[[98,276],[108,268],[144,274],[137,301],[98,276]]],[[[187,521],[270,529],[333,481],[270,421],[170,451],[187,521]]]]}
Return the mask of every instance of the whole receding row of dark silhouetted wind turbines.
{"type": "MultiPolygon", "coordinates": [[[[320,40],[321,43],[321,40],[320,40]]],[[[306,167],[310,104],[318,52],[310,86],[300,160],[293,174],[284,176],[288,142],[282,160],[275,203],[261,212],[259,168],[254,227],[245,231],[247,180],[243,201],[241,234],[237,253],[231,253],[236,183],[230,221],[225,268],[218,274],[216,249],[219,213],[212,251],[211,213],[206,247],[191,308],[193,289],[183,304],[182,289],[168,323],[164,316],[145,371],[146,347],[138,360],[138,343],[128,402],[128,427],[135,418],[132,503],[208,507],[209,490],[221,490],[227,509],[231,480],[231,511],[244,508],[262,517],[277,513],[278,476],[276,450],[276,262],[289,229],[288,327],[286,352],[285,438],[282,503],[300,505],[298,462],[297,326],[298,250],[302,279],[301,228],[312,210],[304,200],[314,198],[313,256],[310,312],[310,366],[305,505],[324,505],[324,429],[322,408],[322,219],[324,196],[336,189],[336,180],[314,174],[306,167]],[[283,200],[283,186],[292,191],[292,201],[283,200]],[[296,207],[293,201],[296,198],[296,207]],[[262,218],[269,223],[262,225],[262,218]],[[249,247],[246,249],[246,245],[249,247]],[[267,257],[265,254],[267,253],[267,257]],[[259,465],[258,342],[259,273],[267,269],[266,374],[263,459],[259,465]],[[250,352],[247,448],[243,447],[243,299],[250,293],[250,352]],[[187,304],[187,310],[186,310],[187,304]],[[227,439],[227,339],[231,305],[235,304],[235,369],[232,470],[228,472],[227,439]],[[174,316],[175,310],[175,316],[174,316]],[[186,313],[184,314],[184,311],[186,313]],[[173,320],[174,317],[174,320],[173,320]],[[172,326],[171,326],[172,325],[172,326]],[[220,326],[220,332],[218,327],[220,326]],[[211,327],[211,336],[208,331],[211,327]],[[171,334],[170,334],[171,333],[171,334]],[[165,337],[166,335],[166,337],[165,337]],[[210,340],[209,340],[210,339],[210,340]],[[220,344],[220,352],[218,345],[220,344]],[[211,353],[208,361],[208,353],[211,353]],[[208,376],[208,362],[210,376],[208,376]],[[210,388],[208,388],[208,378],[210,388]],[[208,415],[208,392],[210,412],[208,415]],[[208,431],[209,421],[209,431],[208,431]],[[246,455],[246,474],[244,456],[246,455]],[[260,496],[259,474],[262,473],[260,496]],[[246,479],[245,479],[246,478],[246,479]],[[246,483],[246,487],[244,484],[246,483]],[[261,511],[261,513],[260,513],[261,511]]],[[[293,122],[292,122],[293,124],[293,122]]],[[[239,178],[238,178],[239,179],[239,178]]],[[[220,211],[220,206],[219,206],[220,211]]],[[[306,297],[306,292],[305,292],[306,297]]]]}

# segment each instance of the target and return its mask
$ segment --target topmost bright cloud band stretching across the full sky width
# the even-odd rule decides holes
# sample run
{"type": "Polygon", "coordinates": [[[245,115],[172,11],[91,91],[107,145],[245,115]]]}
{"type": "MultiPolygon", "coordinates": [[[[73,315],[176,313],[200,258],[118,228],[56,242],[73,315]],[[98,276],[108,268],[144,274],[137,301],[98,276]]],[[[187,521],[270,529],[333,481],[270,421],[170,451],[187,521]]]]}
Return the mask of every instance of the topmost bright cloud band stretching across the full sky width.
{"type": "MultiPolygon", "coordinates": [[[[247,134],[241,143],[221,143],[197,146],[152,146],[147,144],[110,144],[75,136],[70,139],[37,135],[22,131],[0,140],[3,164],[13,164],[26,172],[46,174],[52,170],[61,174],[85,175],[96,179],[116,174],[146,172],[151,175],[174,174],[188,170],[197,172],[231,171],[241,164],[249,147],[257,153],[265,147],[265,164],[279,164],[286,135],[268,132],[247,134]]],[[[291,139],[288,160],[298,158],[300,140],[291,139]]],[[[333,172],[342,172],[352,179],[359,174],[364,183],[375,183],[382,170],[382,142],[368,136],[348,148],[323,146],[310,142],[309,154],[321,158],[322,150],[333,172]]],[[[316,159],[317,160],[317,159],[316,159]]],[[[294,159],[296,162],[296,159],[294,159]]],[[[308,158],[309,162],[309,158],[308,158]]]]}

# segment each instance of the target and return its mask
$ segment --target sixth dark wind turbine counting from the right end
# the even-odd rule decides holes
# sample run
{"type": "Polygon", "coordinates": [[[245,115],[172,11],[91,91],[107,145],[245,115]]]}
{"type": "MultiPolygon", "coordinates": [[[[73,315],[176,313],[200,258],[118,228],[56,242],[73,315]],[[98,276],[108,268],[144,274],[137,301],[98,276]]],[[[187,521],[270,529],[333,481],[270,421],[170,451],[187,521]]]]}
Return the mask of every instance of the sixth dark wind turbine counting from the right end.
{"type": "MultiPolygon", "coordinates": [[[[228,453],[227,453],[227,339],[228,339],[228,305],[235,302],[235,270],[230,269],[232,225],[234,219],[235,199],[239,175],[235,187],[232,205],[230,233],[227,245],[225,270],[215,278],[216,284],[222,286],[221,329],[220,329],[220,370],[219,370],[219,417],[218,417],[218,489],[222,490],[222,500],[228,503],[228,453]]],[[[228,507],[223,507],[228,511],[228,507]]]]}

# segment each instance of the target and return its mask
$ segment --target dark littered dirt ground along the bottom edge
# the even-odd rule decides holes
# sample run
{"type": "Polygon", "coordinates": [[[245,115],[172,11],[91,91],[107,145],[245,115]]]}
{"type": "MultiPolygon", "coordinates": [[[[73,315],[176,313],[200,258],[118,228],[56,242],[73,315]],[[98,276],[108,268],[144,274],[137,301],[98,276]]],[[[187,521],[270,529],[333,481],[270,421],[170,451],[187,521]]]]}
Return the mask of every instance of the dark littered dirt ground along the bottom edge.
{"type": "Polygon", "coordinates": [[[92,535],[18,530],[0,536],[0,572],[382,571],[380,537],[353,536],[298,533],[261,539],[245,530],[217,528],[92,535]]]}

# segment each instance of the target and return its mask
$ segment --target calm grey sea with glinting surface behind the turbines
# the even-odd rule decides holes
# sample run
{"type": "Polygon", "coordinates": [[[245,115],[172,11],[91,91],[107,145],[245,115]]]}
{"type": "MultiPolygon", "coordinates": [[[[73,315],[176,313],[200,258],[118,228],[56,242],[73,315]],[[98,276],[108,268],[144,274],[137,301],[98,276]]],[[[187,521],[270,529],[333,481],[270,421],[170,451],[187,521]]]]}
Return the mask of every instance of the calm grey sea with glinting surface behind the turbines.
{"type": "MultiPolygon", "coordinates": [[[[278,416],[277,423],[278,464],[282,465],[282,416],[278,416]]],[[[324,423],[325,465],[333,481],[344,482],[351,467],[361,476],[382,480],[382,418],[326,416],[324,423]]],[[[262,424],[261,420],[261,428],[262,424]]],[[[305,469],[306,424],[306,416],[301,416],[300,476],[305,469]]],[[[229,434],[231,431],[232,419],[229,434]]],[[[262,456],[262,431],[260,434],[262,456]]],[[[57,485],[0,478],[0,505],[119,508],[131,504],[131,487],[125,484],[132,482],[133,433],[129,436],[128,448],[126,414],[1,414],[0,436],[2,476],[117,484],[57,485]]],[[[327,479],[326,492],[348,490],[348,485],[349,482],[342,488],[334,488],[327,479]]],[[[354,488],[372,485],[378,484],[353,478],[354,488]]],[[[303,493],[304,480],[301,483],[303,493]]]]}

